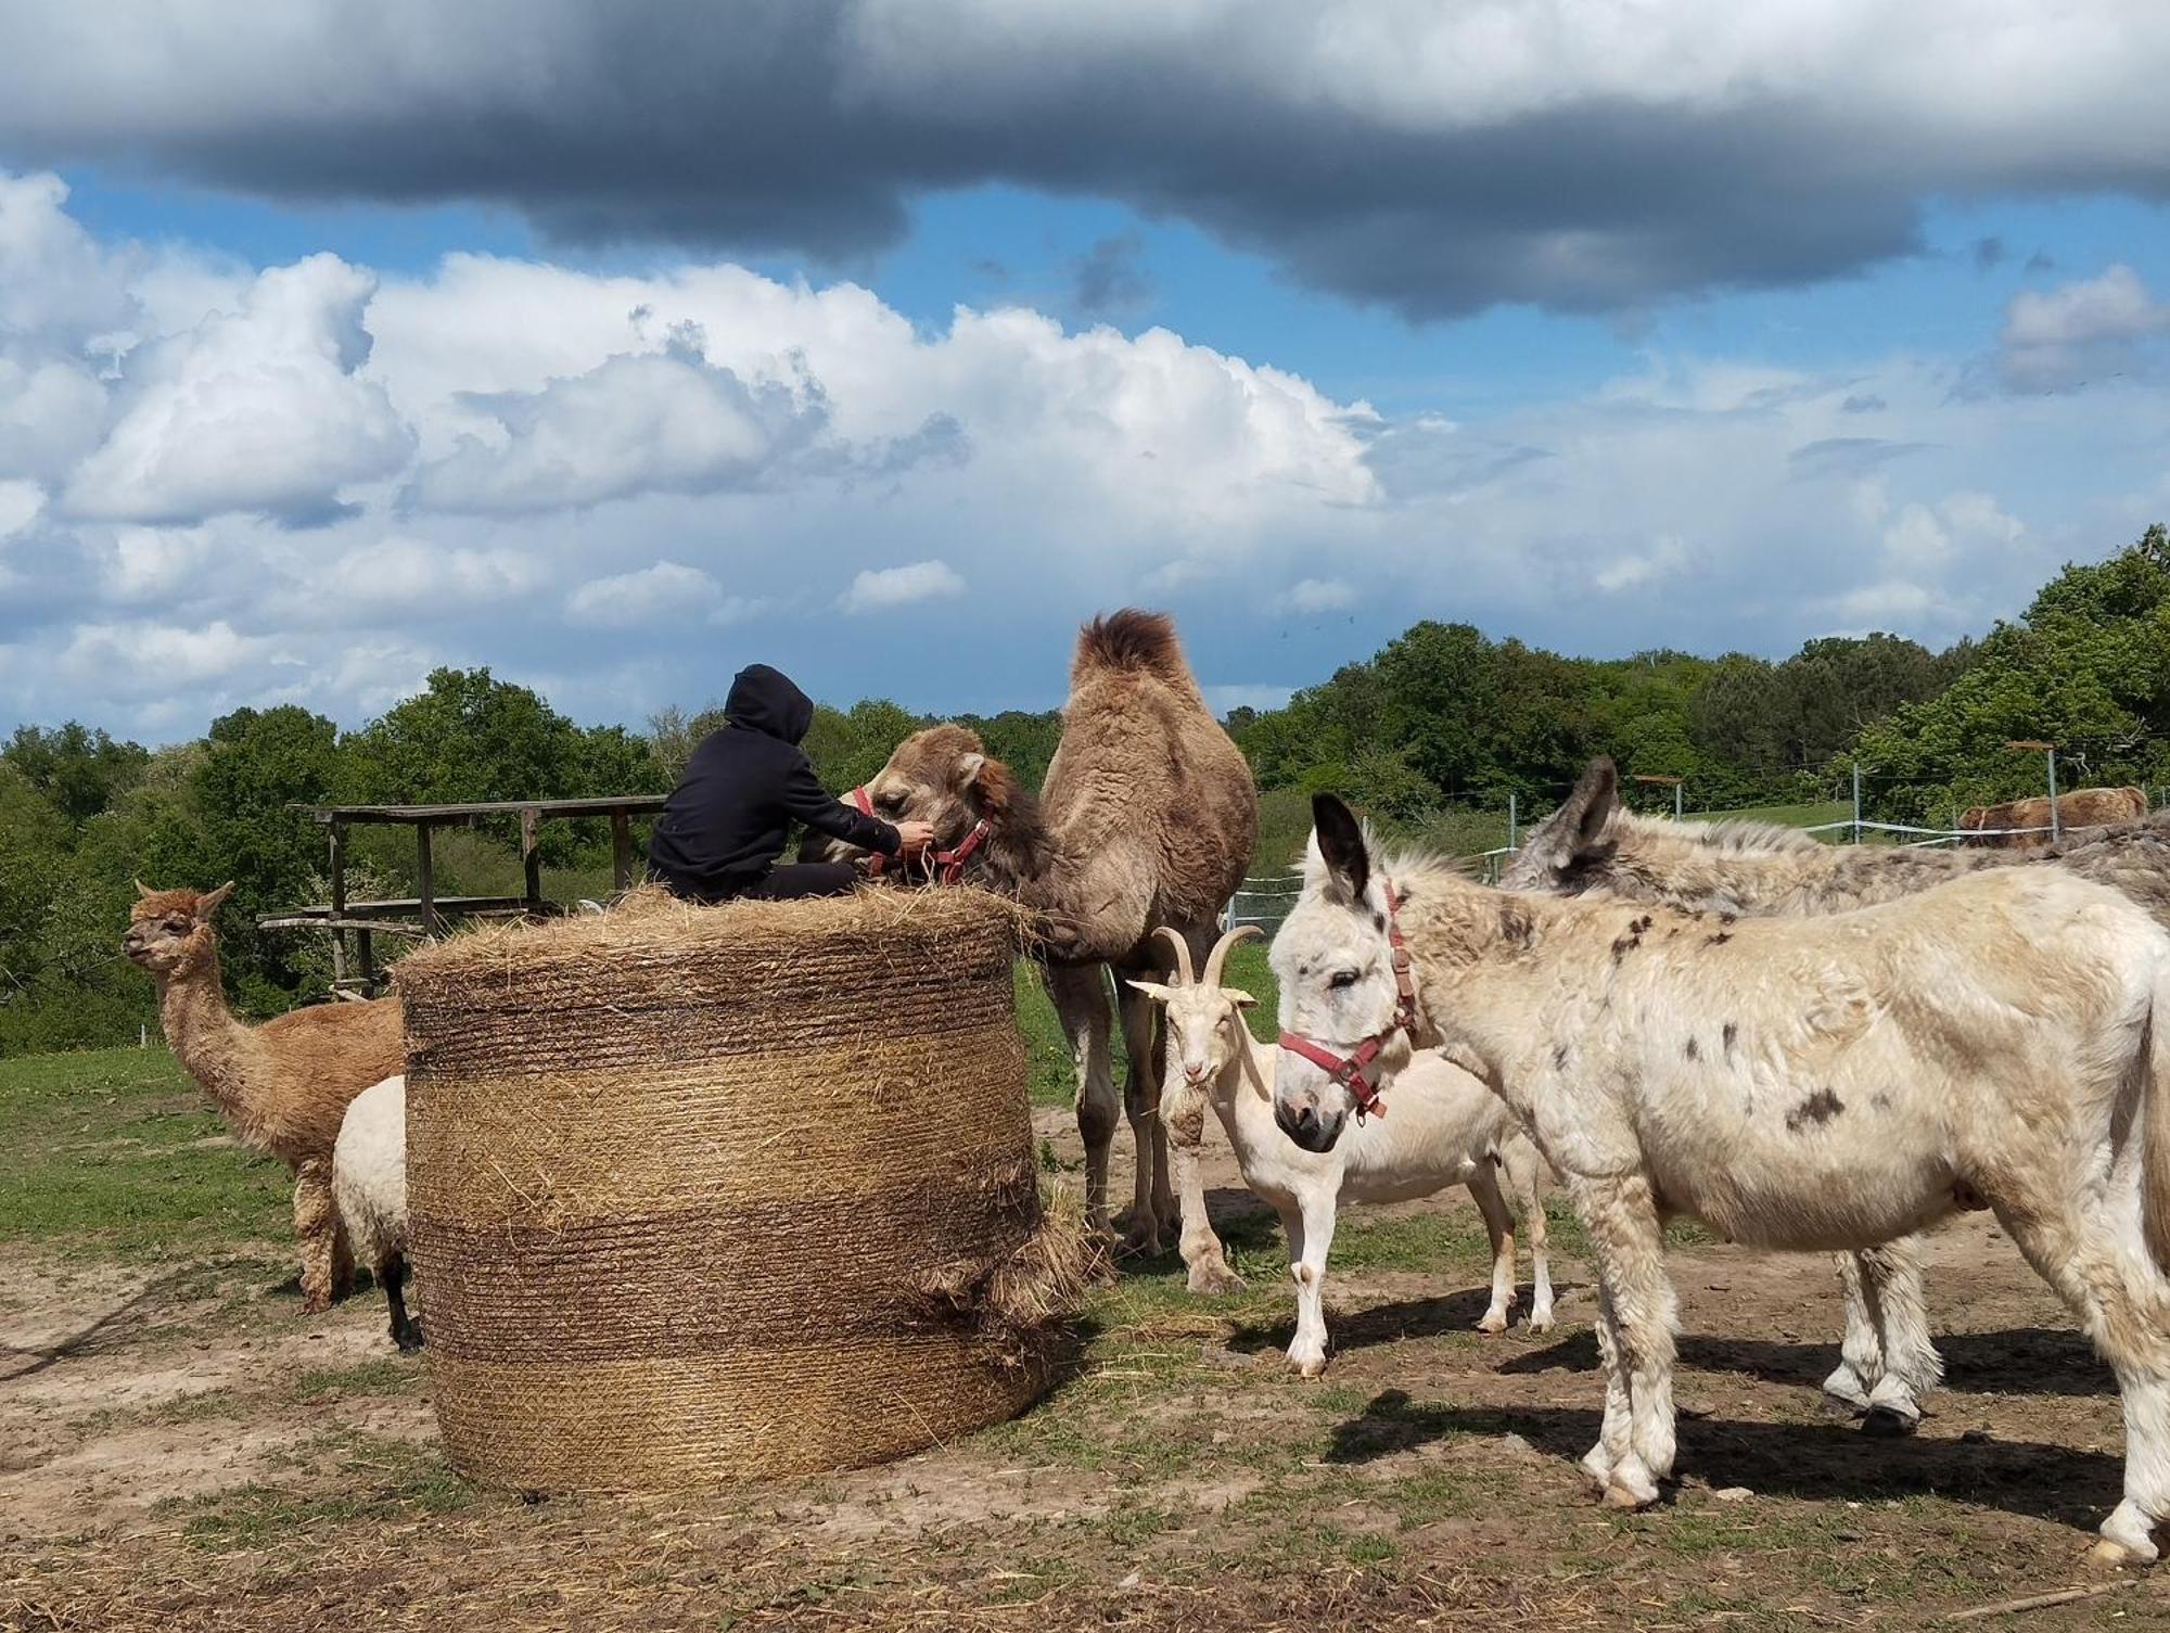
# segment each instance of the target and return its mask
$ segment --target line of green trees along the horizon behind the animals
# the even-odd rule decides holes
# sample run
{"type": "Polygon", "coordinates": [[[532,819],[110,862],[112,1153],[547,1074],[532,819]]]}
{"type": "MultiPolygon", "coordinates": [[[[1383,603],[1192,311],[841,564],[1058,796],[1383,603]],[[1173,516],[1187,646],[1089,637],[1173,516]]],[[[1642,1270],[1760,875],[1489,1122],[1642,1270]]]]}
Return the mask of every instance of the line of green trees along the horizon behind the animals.
{"type": "MultiPolygon", "coordinates": [[[[1037,784],[1057,712],[963,717],[1037,784]]],[[[816,712],[807,751],[831,788],[870,777],[927,721],[866,699],[816,712]]],[[[720,710],[666,708],[644,732],[579,725],[488,669],[438,669],[360,730],[297,706],[241,708],[165,749],[76,721],[17,725],[0,747],[0,1055],[132,1040],[150,982],[117,953],[132,879],[234,879],[221,921],[237,1008],[276,1014],[323,990],[317,938],[256,916],[326,899],[326,836],[293,806],[575,799],[660,793],[720,710]]],[[[1628,775],[1684,777],[1697,810],[1827,799],[1860,764],[1871,814],[1942,825],[2035,793],[2009,738],[2059,743],[2066,786],[2170,780],[2170,532],[2066,567],[2027,612],[1946,651],[1890,634],[1810,641],[1771,662],[1643,651],[1571,658],[1467,623],[1417,623],[1378,654],[1228,727],[1265,790],[1330,788],[1424,825],[1454,806],[1526,816],[1593,754],[1628,775]]],[[[354,895],[412,890],[404,830],[349,834],[354,895]]],[[[610,882],[601,823],[551,823],[553,895],[610,882]]],[[[438,890],[506,895],[510,832],[438,838],[438,890]]]]}

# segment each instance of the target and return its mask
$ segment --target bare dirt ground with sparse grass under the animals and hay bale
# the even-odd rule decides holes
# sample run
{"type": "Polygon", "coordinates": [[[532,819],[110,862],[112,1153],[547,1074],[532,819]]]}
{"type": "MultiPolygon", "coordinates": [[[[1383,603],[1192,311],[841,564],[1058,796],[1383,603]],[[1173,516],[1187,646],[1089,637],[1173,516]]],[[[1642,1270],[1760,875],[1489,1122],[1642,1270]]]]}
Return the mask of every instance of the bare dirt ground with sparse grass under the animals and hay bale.
{"type": "MultiPolygon", "coordinates": [[[[1042,1127],[1076,1155],[1065,1114],[1042,1127]]],[[[1682,1483],[1612,1516],[1575,1472],[1599,1405],[1580,1262],[1556,1331],[1480,1338],[1460,1192],[1369,1236],[1352,1216],[1335,1362],[1304,1383],[1276,1231],[1217,1134],[1215,1162],[1250,1292],[1135,1266],[1016,1425],[697,1498],[467,1488],[375,1294],[306,1320],[280,1242],[184,1266],[9,1249],[0,1629],[1901,1629],[2059,1590],[2090,1596],[1973,1624],[2170,1626],[2170,1579],[2085,1557],[2118,1401],[1986,1216],[1933,1244],[1949,1385],[1897,1442],[1816,1390],[1823,1259],[1677,1249],[1682,1483]],[[1397,1262],[1441,1212],[1443,1262],[1397,1262]]]]}

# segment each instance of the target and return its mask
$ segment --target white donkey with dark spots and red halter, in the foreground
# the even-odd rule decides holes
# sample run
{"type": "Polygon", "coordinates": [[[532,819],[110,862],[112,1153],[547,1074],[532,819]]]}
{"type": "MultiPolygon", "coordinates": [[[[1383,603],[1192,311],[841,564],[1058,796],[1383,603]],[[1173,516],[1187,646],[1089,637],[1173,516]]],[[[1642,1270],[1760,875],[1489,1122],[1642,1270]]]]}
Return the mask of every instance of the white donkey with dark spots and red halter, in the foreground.
{"type": "Polygon", "coordinates": [[[2098,1553],[2155,1559],[2170,934],[2146,912],[2009,869],[1829,919],[1723,923],[1491,890],[1441,860],[1380,866],[1330,795],[1313,821],[1274,940],[1276,1114],[1330,1151],[1424,1045],[1515,1107],[1591,1238],[1606,1412],[1584,1468],[1608,1503],[1654,1503],[1673,1468],[1669,1214],[1753,1246],[1851,1251],[1979,1199],[2118,1377],[2124,1501],[2098,1553]]]}

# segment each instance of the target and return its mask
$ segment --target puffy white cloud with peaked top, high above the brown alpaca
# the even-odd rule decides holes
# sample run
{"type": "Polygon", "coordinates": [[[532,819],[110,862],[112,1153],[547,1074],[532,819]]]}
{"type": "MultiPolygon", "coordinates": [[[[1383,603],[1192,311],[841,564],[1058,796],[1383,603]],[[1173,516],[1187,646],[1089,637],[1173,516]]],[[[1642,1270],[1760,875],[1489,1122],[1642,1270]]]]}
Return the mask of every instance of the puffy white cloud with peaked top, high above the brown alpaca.
{"type": "Polygon", "coordinates": [[[65,491],[93,521],[202,521],[228,510],[323,521],[347,484],[397,473],[414,447],[369,358],[375,280],[317,254],[256,278],[237,313],[124,363],[122,410],[65,491]]]}

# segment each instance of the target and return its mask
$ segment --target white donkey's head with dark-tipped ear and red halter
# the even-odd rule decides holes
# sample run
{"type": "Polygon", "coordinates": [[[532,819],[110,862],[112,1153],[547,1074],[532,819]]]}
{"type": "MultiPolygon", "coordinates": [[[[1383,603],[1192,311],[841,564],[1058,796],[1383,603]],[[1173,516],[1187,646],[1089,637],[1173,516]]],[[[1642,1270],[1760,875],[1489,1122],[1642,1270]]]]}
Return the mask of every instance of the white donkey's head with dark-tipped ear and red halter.
{"type": "Polygon", "coordinates": [[[1410,1040],[1397,1025],[1389,884],[1371,843],[1332,795],[1313,797],[1311,823],[1304,893],[1274,936],[1282,1034],[1274,1118],[1306,1151],[1332,1151],[1358,1099],[1345,1075],[1291,1049],[1291,1038],[1341,1062],[1371,1047],[1363,1075],[1374,1088],[1408,1064],[1410,1040]]]}

